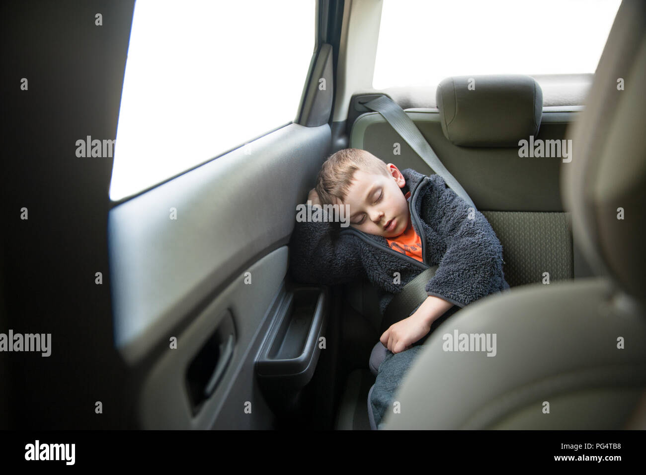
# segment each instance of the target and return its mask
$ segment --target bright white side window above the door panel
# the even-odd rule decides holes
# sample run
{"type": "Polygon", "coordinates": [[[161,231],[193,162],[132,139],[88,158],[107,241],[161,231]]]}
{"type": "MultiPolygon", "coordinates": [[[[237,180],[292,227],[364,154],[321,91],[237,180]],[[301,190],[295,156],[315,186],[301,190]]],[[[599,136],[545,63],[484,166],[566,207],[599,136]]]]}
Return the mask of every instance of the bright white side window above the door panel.
{"type": "Polygon", "coordinates": [[[314,40],[315,0],[138,0],[110,199],[293,121],[314,40]]]}

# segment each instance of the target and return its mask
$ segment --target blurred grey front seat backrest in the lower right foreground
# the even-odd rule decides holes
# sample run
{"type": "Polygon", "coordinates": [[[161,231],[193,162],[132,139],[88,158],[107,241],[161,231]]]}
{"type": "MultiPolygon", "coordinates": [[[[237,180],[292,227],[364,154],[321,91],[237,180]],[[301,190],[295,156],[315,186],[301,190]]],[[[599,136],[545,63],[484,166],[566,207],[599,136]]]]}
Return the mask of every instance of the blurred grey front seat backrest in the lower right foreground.
{"type": "Polygon", "coordinates": [[[646,315],[609,279],[535,284],[440,326],[395,395],[406,410],[383,428],[617,430],[644,388],[646,315]],[[496,335],[495,352],[451,351],[444,335],[455,331],[496,335]]]}

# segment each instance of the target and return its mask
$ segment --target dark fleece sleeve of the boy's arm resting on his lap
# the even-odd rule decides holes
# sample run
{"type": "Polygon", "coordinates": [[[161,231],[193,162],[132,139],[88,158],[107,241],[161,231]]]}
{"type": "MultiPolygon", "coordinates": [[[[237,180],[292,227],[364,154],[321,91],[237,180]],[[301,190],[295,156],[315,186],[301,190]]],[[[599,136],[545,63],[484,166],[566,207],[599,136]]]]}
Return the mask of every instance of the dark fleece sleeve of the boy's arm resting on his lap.
{"type": "Polygon", "coordinates": [[[508,288],[503,273],[503,246],[485,216],[472,209],[439,175],[431,177],[426,196],[430,224],[446,244],[426,293],[460,307],[508,288]]]}

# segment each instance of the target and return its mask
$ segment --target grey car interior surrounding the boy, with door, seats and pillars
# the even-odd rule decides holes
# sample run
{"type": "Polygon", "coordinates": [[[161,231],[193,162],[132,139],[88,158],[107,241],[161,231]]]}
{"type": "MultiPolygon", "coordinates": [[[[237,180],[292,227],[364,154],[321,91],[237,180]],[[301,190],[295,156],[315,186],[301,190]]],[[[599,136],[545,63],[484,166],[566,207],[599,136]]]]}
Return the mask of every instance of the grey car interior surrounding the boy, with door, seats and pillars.
{"type": "MultiPolygon", "coordinates": [[[[435,173],[366,107],[380,96],[490,222],[510,284],[433,330],[383,428],[646,428],[646,5],[621,3],[594,73],[448,74],[375,89],[383,5],[317,0],[294,120],[119,200],[108,194],[112,158],[63,150],[77,136],[116,136],[134,1],[102,4],[94,36],[59,28],[94,6],[53,23],[44,18],[56,5],[39,7],[36,23],[24,6],[3,7],[10,32],[39,34],[10,59],[34,79],[28,100],[8,97],[17,119],[6,133],[38,139],[15,145],[31,160],[7,165],[0,323],[53,343],[48,359],[0,359],[2,428],[374,428],[377,290],[367,279],[298,282],[289,253],[297,206],[335,151],[435,173]],[[570,160],[521,157],[530,134],[564,153],[571,143],[570,160]],[[53,163],[45,144],[64,158],[53,163]],[[23,206],[28,222],[16,220],[23,206]],[[454,328],[497,333],[497,354],[444,351],[454,328]]],[[[240,107],[253,114],[253,99],[240,107]]]]}

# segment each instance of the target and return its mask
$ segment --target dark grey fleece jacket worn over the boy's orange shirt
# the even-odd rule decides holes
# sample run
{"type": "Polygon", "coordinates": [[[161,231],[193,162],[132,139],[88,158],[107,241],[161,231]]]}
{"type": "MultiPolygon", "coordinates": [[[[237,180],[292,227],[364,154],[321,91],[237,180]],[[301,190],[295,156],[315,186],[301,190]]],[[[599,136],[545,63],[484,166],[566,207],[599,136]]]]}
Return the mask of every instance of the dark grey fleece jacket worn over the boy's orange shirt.
{"type": "Polygon", "coordinates": [[[401,173],[406,179],[402,193],[411,192],[408,207],[421,237],[423,263],[391,249],[384,237],[339,222],[297,221],[289,245],[293,279],[335,285],[367,277],[379,290],[382,314],[396,293],[433,265],[439,268],[426,293],[459,308],[508,289],[503,248],[485,216],[470,213],[470,206],[438,174],[426,176],[410,168],[401,173]]]}

